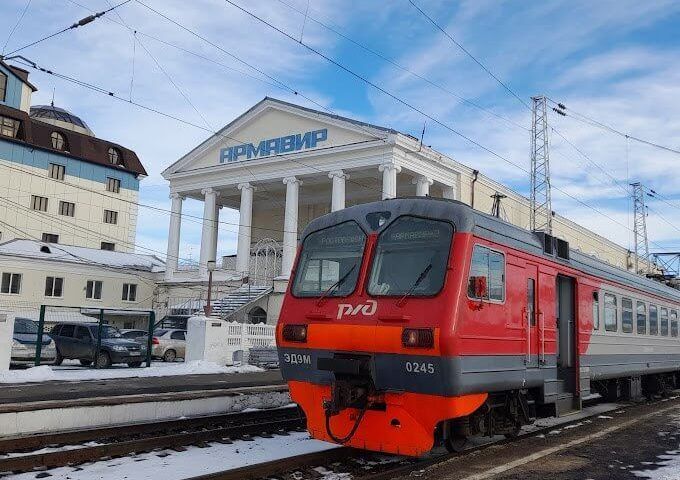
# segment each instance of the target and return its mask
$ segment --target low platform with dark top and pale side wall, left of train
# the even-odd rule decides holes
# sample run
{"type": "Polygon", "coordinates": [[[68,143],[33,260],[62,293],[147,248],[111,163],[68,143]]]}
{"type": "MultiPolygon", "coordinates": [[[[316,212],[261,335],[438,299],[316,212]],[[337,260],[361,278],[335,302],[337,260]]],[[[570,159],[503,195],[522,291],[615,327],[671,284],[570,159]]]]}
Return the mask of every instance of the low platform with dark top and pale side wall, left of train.
{"type": "Polygon", "coordinates": [[[279,370],[0,386],[0,437],[276,408],[290,403],[279,370]]]}

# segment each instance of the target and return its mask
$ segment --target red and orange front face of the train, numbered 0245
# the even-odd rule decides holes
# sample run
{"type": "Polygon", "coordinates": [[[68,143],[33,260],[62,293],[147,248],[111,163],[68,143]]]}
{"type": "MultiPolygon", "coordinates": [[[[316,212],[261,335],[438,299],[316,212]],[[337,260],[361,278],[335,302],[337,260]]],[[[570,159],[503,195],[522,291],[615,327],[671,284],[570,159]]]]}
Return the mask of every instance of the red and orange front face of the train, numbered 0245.
{"type": "Polygon", "coordinates": [[[277,329],[282,372],[314,438],[421,455],[440,422],[487,398],[450,395],[446,360],[470,234],[370,215],[303,239],[277,329]]]}

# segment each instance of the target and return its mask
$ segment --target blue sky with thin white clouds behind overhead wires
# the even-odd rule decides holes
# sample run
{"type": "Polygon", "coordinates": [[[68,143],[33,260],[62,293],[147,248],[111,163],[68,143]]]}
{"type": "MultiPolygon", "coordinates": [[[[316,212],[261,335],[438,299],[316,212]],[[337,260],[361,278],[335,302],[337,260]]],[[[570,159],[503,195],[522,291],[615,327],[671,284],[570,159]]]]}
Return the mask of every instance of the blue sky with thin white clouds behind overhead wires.
{"type": "MultiPolygon", "coordinates": [[[[304,19],[296,10],[304,11],[307,0],[234,1],[299,38],[304,19]]],[[[680,58],[677,33],[680,3],[670,0],[414,1],[526,102],[532,95],[543,93],[619,130],[673,148],[680,147],[680,115],[677,114],[680,111],[680,63],[677,61],[680,58]]],[[[3,44],[27,2],[0,2],[3,44]]],[[[225,2],[144,2],[336,113],[420,135],[425,121],[422,115],[343,73],[225,2]]],[[[32,0],[5,53],[72,24],[89,14],[87,9],[100,11],[109,7],[106,0],[77,0],[77,3],[32,0]]],[[[428,115],[529,169],[530,112],[407,0],[310,0],[303,39],[428,115]],[[447,91],[394,67],[315,20],[447,91]],[[461,98],[510,122],[472,108],[461,98]]],[[[260,73],[249,70],[224,51],[183,31],[137,1],[21,53],[59,73],[202,124],[201,116],[145,49],[214,129],[267,95],[309,105],[305,99],[270,85],[260,73]],[[123,24],[137,30],[136,44],[123,24]]],[[[168,187],[160,172],[206,138],[207,132],[43,73],[32,72],[31,79],[40,89],[34,95],[34,103],[49,103],[54,89],[55,104],[82,116],[99,136],[134,149],[150,173],[142,182],[140,201],[169,208],[168,187]]],[[[552,116],[550,122],[588,156],[585,159],[552,132],[553,185],[559,189],[553,191],[556,211],[629,246],[632,241],[627,228],[632,225],[630,202],[623,186],[629,181],[641,181],[668,201],[647,199],[648,229],[654,242],[651,249],[680,250],[679,155],[635,142],[627,145],[622,137],[572,118],[552,116]]],[[[529,179],[524,172],[431,121],[427,122],[425,143],[527,192],[529,179]]],[[[185,212],[202,215],[200,203],[186,203],[185,212]]],[[[223,219],[236,221],[237,217],[234,212],[225,212],[223,219]]],[[[137,244],[144,247],[145,252],[165,252],[167,223],[167,215],[140,208],[137,244]]],[[[220,253],[235,250],[236,235],[230,230],[233,229],[221,227],[220,253]]],[[[180,256],[196,259],[199,245],[200,225],[185,219],[180,256]]]]}

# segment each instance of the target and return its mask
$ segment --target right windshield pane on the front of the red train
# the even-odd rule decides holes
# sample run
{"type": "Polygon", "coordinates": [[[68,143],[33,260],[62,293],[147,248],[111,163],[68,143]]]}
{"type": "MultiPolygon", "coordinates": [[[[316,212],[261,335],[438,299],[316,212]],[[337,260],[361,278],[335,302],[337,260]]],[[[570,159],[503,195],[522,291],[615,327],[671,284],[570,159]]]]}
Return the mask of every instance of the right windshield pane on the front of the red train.
{"type": "Polygon", "coordinates": [[[400,217],[380,234],[368,284],[371,295],[436,295],[444,285],[453,226],[400,217]]]}

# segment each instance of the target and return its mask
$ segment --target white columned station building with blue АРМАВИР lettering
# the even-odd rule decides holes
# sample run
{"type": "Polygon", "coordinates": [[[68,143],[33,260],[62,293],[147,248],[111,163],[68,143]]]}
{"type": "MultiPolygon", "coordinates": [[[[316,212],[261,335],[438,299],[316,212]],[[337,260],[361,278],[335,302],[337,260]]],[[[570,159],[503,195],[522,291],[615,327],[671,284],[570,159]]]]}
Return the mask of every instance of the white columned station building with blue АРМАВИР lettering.
{"type": "MultiPolygon", "coordinates": [[[[396,196],[430,195],[491,213],[492,196],[500,193],[506,197],[503,218],[529,228],[529,199],[474,167],[391,128],[274,98],[260,101],[163,176],[172,199],[161,286],[169,303],[179,305],[192,286],[205,285],[208,261],[215,260],[218,285],[240,286],[241,297],[245,289],[256,289],[239,304],[243,321],[249,319],[250,308],[257,308],[260,315],[266,311],[268,323],[276,322],[299,235],[312,219],[331,211],[396,196]],[[177,263],[185,198],[204,202],[195,268],[177,263]],[[239,211],[237,225],[220,220],[222,208],[239,211]],[[238,230],[235,256],[216,258],[221,228],[238,230]]],[[[627,249],[564,217],[554,216],[553,233],[572,248],[631,268],[627,249]]]]}

